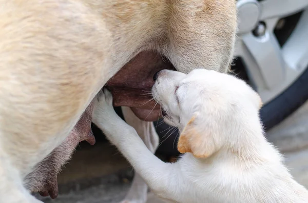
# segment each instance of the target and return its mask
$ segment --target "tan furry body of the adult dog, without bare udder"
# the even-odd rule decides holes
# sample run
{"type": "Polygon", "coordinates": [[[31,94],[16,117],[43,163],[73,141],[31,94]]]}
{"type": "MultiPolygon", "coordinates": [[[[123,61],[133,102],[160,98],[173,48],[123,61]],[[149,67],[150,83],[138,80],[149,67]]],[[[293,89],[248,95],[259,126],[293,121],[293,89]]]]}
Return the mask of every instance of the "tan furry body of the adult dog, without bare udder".
{"type": "Polygon", "coordinates": [[[99,90],[141,51],[181,72],[225,72],[235,4],[0,0],[0,202],[38,201],[24,187],[27,175],[69,140],[99,90]]]}

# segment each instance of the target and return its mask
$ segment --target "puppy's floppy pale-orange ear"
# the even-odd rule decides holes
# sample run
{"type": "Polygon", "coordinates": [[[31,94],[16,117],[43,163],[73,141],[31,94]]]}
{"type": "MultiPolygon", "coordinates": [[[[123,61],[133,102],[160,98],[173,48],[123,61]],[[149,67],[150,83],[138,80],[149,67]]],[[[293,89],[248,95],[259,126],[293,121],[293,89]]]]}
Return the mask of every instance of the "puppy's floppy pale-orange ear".
{"type": "Polygon", "coordinates": [[[210,131],[200,132],[196,128],[195,119],[196,116],[192,117],[183,129],[178,142],[178,150],[181,153],[190,152],[198,158],[207,158],[216,152],[217,146],[210,131]]]}

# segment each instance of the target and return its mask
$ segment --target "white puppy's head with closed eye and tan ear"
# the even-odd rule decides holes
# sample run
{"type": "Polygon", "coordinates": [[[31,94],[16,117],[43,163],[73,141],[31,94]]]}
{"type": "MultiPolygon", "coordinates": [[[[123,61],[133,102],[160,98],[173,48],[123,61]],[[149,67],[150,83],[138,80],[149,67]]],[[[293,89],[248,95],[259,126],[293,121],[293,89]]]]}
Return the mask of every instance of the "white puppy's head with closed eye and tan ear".
{"type": "Polygon", "coordinates": [[[163,70],[155,80],[153,98],[163,108],[164,121],[179,127],[181,153],[209,157],[229,144],[228,137],[247,118],[259,123],[259,95],[234,76],[204,69],[187,75],[163,70]]]}

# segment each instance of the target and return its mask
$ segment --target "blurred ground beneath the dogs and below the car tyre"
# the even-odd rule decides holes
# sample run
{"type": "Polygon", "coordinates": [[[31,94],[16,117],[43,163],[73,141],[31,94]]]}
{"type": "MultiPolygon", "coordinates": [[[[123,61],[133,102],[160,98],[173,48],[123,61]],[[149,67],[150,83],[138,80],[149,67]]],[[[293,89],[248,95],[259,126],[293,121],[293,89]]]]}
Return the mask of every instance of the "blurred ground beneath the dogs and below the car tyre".
{"type": "MultiPolygon", "coordinates": [[[[308,102],[269,132],[268,139],[284,154],[295,179],[308,188],[308,102]]],[[[56,203],[115,203],[123,199],[131,178],[129,164],[107,143],[81,145],[59,175],[60,195],[56,203]]],[[[149,193],[148,203],[162,203],[149,193]]]]}

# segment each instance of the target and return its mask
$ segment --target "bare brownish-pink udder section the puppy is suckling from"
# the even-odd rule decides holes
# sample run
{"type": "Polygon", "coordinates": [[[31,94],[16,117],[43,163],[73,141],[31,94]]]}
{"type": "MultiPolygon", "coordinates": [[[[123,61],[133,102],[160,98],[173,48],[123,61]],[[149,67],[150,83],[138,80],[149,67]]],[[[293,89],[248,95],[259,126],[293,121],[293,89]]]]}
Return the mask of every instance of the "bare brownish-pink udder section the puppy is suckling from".
{"type": "Polygon", "coordinates": [[[152,100],[153,75],[163,69],[175,70],[160,54],[144,51],[131,59],[107,83],[114,106],[129,106],[142,120],[155,121],[160,106],[152,100]]]}

